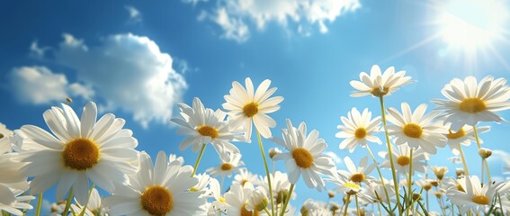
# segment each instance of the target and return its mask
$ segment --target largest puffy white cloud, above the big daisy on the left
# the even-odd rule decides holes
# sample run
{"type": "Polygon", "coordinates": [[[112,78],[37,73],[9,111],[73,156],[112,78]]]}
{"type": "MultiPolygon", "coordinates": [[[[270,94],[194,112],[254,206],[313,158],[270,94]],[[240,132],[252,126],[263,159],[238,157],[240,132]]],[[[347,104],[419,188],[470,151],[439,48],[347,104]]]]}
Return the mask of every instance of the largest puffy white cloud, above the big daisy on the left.
{"type": "Polygon", "coordinates": [[[52,50],[54,60],[76,71],[76,78],[85,83],[70,86],[74,93],[94,88],[94,99],[104,102],[103,111],[131,112],[144,127],[149,121],[168,123],[187,88],[173,68],[173,58],[147,37],[111,35],[88,47],[84,40],[65,34],[52,50]]]}

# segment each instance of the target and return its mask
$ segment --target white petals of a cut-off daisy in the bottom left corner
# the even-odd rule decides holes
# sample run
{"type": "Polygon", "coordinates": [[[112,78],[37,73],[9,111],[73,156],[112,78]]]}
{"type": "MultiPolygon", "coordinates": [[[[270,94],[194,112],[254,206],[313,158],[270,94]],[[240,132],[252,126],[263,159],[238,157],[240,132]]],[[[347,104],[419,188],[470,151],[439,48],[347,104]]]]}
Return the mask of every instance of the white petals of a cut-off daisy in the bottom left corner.
{"type": "Polygon", "coordinates": [[[0,184],[0,212],[21,216],[24,215],[21,210],[31,210],[33,207],[27,202],[35,199],[35,197],[22,195],[22,193],[24,191],[0,184]]]}

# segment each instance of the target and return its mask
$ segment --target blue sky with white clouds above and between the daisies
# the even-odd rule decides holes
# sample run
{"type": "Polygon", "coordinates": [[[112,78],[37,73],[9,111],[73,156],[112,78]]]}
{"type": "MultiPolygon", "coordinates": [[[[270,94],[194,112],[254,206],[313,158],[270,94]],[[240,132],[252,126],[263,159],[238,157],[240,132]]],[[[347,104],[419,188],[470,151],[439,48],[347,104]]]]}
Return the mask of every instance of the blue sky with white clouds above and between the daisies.
{"type": "MultiPolygon", "coordinates": [[[[364,149],[353,154],[340,151],[341,140],[335,134],[340,116],[352,107],[380,114],[375,98],[349,96],[353,91],[349,81],[358,79],[361,71],[369,72],[374,64],[406,70],[417,82],[402,87],[386,102],[387,107],[399,107],[406,101],[413,109],[443,98],[443,85],[454,77],[510,78],[505,2],[498,9],[502,11],[494,12],[500,14],[494,15],[497,21],[485,19],[499,22],[497,33],[478,46],[443,39],[442,32],[450,24],[441,19],[443,14],[463,19],[471,13],[468,4],[449,11],[448,1],[310,0],[308,6],[257,1],[247,8],[241,2],[250,1],[0,3],[0,94],[4,98],[0,122],[11,130],[23,124],[46,128],[42,112],[66,96],[73,98],[71,105],[78,113],[86,101],[94,100],[103,112],[127,120],[126,128],[139,139],[139,150],[152,157],[165,150],[192,165],[196,154],[178,150],[183,137],[169,123],[178,114],[176,103],[189,104],[199,97],[207,107],[220,108],[232,81],[243,83],[249,76],[255,85],[271,79],[272,86],[278,87],[275,95],[285,98],[282,109],[272,115],[278,123],[273,135],[281,136],[286,118],[295,124],[306,121],[309,129],[319,130],[327,140],[329,151],[358,161],[367,155],[364,149]],[[324,7],[313,7],[320,4],[324,7]]],[[[488,15],[483,13],[480,9],[471,15],[484,20],[480,17],[488,15]]],[[[474,24],[483,28],[487,23],[474,24]]],[[[434,104],[429,104],[430,111],[434,104]]],[[[500,114],[510,119],[510,112],[500,114]]],[[[484,125],[493,126],[481,135],[484,145],[510,151],[503,141],[510,125],[484,125]]],[[[264,145],[275,147],[269,140],[264,145]]],[[[246,152],[246,166],[263,174],[256,144],[238,146],[246,152]]],[[[476,146],[466,152],[478,160],[476,146]]],[[[503,176],[502,155],[490,161],[492,175],[503,176]]],[[[460,165],[445,159],[451,156],[449,148],[443,148],[430,164],[449,166],[452,176],[460,165]]],[[[219,163],[212,148],[206,150],[203,161],[199,171],[219,163]]],[[[470,169],[477,174],[479,162],[473,161],[470,169]]],[[[316,193],[302,183],[298,188],[295,203],[308,195],[326,200],[326,193],[316,193]]]]}

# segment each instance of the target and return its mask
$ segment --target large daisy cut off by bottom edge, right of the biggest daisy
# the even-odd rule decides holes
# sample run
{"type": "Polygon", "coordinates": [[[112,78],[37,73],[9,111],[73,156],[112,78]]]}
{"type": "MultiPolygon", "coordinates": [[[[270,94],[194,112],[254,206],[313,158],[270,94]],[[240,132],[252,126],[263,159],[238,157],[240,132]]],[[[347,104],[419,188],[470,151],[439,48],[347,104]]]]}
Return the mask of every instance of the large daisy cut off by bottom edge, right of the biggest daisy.
{"type": "Polygon", "coordinates": [[[139,158],[140,169],[128,175],[130,184],[115,187],[104,199],[111,215],[205,215],[206,200],[188,189],[198,183],[190,177],[192,166],[168,163],[165,152],[157,154],[155,165],[147,153],[139,158]]]}

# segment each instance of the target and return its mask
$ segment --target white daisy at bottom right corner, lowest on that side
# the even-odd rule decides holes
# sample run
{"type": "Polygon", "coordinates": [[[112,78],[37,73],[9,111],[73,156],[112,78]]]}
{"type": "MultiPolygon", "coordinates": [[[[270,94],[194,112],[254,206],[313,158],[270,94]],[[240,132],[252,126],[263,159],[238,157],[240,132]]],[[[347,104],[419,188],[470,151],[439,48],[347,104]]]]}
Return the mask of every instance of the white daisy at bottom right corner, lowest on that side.
{"type": "Polygon", "coordinates": [[[509,186],[502,183],[482,185],[476,175],[465,176],[465,179],[464,182],[459,182],[464,191],[450,187],[446,192],[453,204],[461,206],[462,214],[467,211],[485,212],[492,204],[496,194],[500,193],[500,190],[506,191],[509,186]]]}

